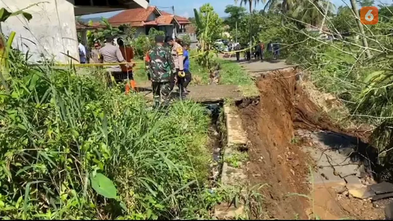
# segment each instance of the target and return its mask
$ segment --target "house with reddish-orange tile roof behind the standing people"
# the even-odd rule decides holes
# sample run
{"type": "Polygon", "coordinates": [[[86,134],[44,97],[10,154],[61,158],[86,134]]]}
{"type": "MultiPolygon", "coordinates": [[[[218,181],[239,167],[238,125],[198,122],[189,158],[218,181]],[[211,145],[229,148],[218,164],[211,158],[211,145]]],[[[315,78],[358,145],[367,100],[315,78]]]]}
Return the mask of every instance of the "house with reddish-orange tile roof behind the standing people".
{"type": "Polygon", "coordinates": [[[187,18],[160,11],[156,6],[128,9],[110,17],[108,22],[114,27],[128,24],[136,28],[136,35],[147,35],[154,28],[173,38],[185,33],[187,24],[191,24],[187,18]]]}

